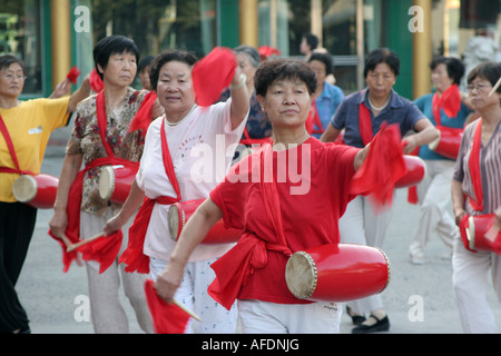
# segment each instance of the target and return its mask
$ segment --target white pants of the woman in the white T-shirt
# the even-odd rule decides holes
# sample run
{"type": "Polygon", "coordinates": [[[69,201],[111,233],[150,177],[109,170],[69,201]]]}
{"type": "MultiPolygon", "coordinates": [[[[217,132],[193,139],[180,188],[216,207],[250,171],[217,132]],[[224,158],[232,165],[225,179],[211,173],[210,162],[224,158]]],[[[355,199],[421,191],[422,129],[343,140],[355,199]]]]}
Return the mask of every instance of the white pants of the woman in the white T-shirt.
{"type": "MultiPolygon", "coordinates": [[[[202,322],[190,318],[186,334],[235,334],[236,332],[238,317],[236,305],[227,310],[207,293],[216,277],[210,268],[210,264],[216,259],[186,264],[181,285],[174,297],[202,318],[202,322]]],[[[150,258],[151,279],[156,280],[166,266],[167,261],[150,258]]]]}

